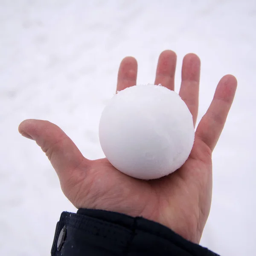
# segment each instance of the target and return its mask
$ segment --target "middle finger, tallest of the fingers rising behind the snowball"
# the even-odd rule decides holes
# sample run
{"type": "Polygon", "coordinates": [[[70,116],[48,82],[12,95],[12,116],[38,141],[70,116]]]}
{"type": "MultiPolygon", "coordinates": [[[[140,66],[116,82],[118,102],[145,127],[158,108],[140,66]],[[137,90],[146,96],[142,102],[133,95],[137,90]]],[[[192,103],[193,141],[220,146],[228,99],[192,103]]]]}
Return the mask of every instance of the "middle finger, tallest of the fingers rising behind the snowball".
{"type": "Polygon", "coordinates": [[[177,56],[171,50],[163,51],[158,59],[155,84],[162,84],[170,90],[174,90],[174,78],[177,56]]]}

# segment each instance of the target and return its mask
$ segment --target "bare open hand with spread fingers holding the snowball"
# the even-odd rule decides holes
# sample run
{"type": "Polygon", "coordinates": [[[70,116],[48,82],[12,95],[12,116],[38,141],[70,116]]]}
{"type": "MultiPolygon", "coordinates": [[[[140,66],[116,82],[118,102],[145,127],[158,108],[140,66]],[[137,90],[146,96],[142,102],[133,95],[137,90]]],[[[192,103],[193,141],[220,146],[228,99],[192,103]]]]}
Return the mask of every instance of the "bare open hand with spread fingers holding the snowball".
{"type": "MultiPolygon", "coordinates": [[[[175,52],[162,52],[155,84],[174,90],[175,67],[175,52]]],[[[199,58],[194,54],[186,55],[179,94],[192,113],[194,125],[198,115],[199,76],[199,58]]],[[[117,90],[135,85],[136,79],[137,61],[124,58],[119,68],[117,90]]],[[[157,180],[129,177],[115,169],[106,158],[86,159],[73,141],[48,121],[25,120],[19,132],[35,140],[46,153],[58,174],[64,195],[75,207],[143,216],[199,243],[211,205],[212,151],[224,127],[236,86],[234,76],[227,75],[220,80],[212,103],[196,129],[188,160],[173,174],[157,180]]]]}

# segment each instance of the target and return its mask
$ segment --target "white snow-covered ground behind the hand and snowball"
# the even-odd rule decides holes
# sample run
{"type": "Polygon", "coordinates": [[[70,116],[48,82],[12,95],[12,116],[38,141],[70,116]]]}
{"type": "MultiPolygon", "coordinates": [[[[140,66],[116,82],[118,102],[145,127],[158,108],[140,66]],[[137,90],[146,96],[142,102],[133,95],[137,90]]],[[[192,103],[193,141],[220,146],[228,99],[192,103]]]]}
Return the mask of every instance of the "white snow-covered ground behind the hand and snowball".
{"type": "Polygon", "coordinates": [[[238,79],[213,153],[212,208],[201,245],[225,256],[255,254],[256,2],[254,0],[0,0],[0,254],[45,256],[62,211],[47,157],[17,127],[59,125],[90,158],[103,157],[98,123],[119,63],[137,58],[138,84],[154,83],[157,59],[201,58],[200,120],[225,74],[238,79]]]}

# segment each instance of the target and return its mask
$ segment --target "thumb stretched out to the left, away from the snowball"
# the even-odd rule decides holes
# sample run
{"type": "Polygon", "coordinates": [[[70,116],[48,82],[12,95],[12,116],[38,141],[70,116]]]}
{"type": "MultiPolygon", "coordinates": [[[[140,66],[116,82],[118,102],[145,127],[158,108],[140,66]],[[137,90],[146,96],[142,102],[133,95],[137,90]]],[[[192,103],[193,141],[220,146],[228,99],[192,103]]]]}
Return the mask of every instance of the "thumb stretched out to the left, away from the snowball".
{"type": "Polygon", "coordinates": [[[51,122],[28,119],[19,125],[19,132],[42,148],[60,180],[86,161],[73,141],[51,122]]]}

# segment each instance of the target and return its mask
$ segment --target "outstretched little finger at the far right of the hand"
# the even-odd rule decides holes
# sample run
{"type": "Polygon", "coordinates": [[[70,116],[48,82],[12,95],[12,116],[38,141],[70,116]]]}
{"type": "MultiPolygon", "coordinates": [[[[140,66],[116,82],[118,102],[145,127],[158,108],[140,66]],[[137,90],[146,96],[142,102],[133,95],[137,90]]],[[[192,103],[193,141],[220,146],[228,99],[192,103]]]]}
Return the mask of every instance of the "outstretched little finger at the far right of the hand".
{"type": "Polygon", "coordinates": [[[201,119],[196,135],[213,150],[221,135],[236,93],[237,81],[232,75],[219,81],[211,105],[201,119]]]}

